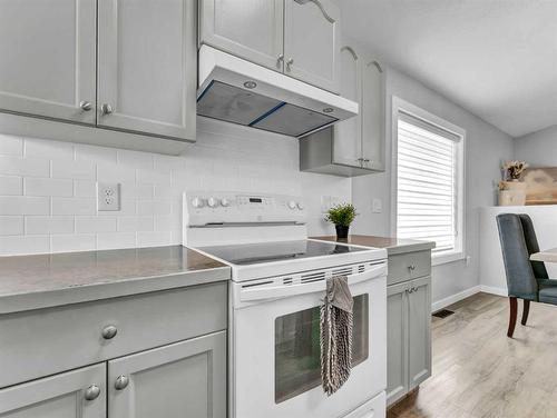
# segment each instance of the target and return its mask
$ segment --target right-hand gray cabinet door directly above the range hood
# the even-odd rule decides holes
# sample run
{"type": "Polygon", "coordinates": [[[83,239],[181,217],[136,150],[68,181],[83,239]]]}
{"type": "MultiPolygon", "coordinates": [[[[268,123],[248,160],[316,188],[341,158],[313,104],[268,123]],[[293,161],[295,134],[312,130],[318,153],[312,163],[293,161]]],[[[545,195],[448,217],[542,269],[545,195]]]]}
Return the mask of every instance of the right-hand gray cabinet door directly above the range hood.
{"type": "Polygon", "coordinates": [[[285,0],[284,72],[339,92],[340,11],[330,0],[285,0]]]}

